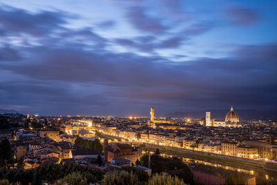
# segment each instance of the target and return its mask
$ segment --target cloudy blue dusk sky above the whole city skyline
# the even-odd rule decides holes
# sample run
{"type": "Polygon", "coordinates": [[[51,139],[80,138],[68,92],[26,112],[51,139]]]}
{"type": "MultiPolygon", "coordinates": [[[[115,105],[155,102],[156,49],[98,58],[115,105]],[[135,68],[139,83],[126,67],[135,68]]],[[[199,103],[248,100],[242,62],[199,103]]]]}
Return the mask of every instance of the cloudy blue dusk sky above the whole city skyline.
{"type": "Polygon", "coordinates": [[[1,0],[0,109],[276,109],[277,1],[1,0]]]}

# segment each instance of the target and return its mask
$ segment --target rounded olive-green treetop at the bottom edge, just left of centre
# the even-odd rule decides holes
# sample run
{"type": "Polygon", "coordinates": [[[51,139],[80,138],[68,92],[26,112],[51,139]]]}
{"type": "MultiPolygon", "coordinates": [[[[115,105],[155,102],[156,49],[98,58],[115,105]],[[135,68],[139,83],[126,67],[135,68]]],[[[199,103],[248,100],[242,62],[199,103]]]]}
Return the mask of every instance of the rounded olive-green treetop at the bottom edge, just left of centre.
{"type": "Polygon", "coordinates": [[[106,173],[101,185],[139,185],[138,176],[125,170],[106,173]]]}

